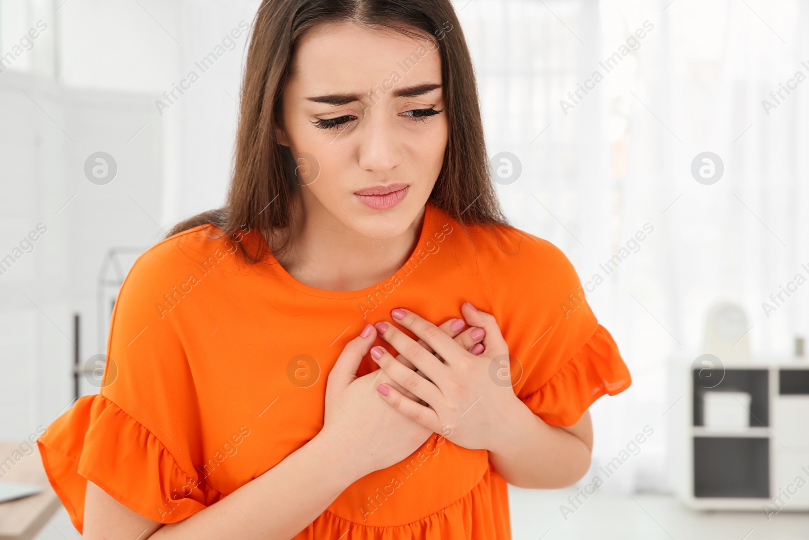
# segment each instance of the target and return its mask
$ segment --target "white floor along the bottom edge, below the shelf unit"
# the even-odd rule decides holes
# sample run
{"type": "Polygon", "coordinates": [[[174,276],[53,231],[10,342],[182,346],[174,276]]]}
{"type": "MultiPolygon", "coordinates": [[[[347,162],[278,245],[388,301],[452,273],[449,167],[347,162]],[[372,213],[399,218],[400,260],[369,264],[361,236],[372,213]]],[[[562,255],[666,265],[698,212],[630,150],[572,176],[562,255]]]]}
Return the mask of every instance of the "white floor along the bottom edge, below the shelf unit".
{"type": "MultiPolygon", "coordinates": [[[[573,490],[509,487],[513,540],[809,540],[809,513],[692,512],[668,495],[591,496],[573,514],[559,509],[573,490]]],[[[61,508],[35,540],[81,538],[61,508]]],[[[474,538],[473,540],[493,540],[474,538]]]]}

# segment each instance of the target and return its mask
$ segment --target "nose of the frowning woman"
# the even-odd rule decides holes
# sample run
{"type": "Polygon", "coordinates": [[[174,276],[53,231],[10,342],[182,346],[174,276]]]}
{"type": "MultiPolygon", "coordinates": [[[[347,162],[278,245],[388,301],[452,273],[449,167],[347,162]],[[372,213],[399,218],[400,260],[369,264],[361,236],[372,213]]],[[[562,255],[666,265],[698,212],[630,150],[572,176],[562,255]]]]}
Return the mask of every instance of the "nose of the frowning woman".
{"type": "Polygon", "coordinates": [[[402,141],[396,118],[387,113],[385,104],[366,108],[358,133],[358,159],[362,170],[389,172],[400,164],[402,141]]]}

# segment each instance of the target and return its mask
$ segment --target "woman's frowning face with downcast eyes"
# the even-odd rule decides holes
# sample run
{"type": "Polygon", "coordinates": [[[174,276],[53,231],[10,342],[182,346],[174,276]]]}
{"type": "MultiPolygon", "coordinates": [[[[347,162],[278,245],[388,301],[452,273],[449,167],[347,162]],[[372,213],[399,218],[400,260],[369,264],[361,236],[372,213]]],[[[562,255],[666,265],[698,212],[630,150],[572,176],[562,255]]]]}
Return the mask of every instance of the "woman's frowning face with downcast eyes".
{"type": "Polygon", "coordinates": [[[420,214],[443,164],[447,113],[433,41],[323,24],[299,42],[283,129],[306,219],[382,240],[420,214]]]}

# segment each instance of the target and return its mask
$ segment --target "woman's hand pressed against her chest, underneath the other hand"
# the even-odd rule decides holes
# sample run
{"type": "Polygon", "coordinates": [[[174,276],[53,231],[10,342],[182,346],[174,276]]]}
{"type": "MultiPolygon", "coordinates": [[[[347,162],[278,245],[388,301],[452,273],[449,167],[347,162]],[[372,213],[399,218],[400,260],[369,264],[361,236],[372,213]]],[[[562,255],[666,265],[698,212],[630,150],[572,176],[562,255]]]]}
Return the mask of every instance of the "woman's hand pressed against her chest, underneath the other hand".
{"type": "MultiPolygon", "coordinates": [[[[483,337],[472,338],[473,328],[461,331],[463,325],[459,323],[453,328],[455,321],[459,320],[451,319],[439,328],[453,336],[462,347],[480,354],[483,349],[479,342],[483,337]]],[[[376,388],[383,382],[400,389],[382,369],[357,376],[362,357],[371,350],[375,339],[376,329],[366,325],[362,334],[345,345],[328,374],[324,426],[318,434],[328,444],[336,445],[336,450],[345,452],[356,467],[357,478],[408,457],[431,433],[388,405],[379,395],[376,388]]],[[[422,347],[426,345],[422,343],[422,347]]]]}

